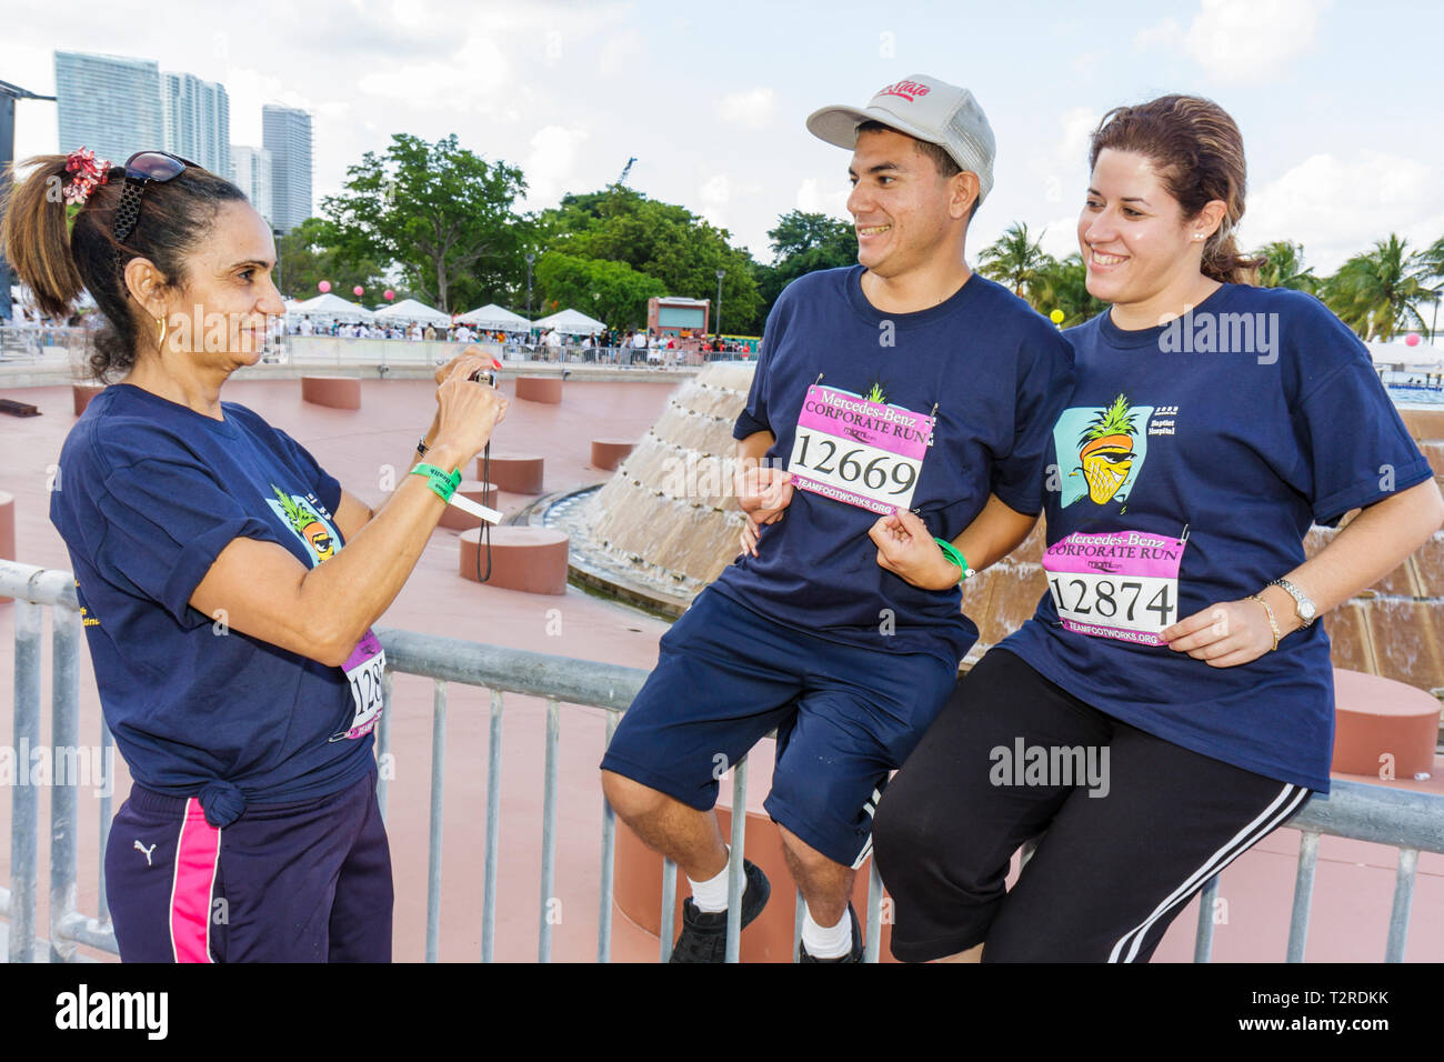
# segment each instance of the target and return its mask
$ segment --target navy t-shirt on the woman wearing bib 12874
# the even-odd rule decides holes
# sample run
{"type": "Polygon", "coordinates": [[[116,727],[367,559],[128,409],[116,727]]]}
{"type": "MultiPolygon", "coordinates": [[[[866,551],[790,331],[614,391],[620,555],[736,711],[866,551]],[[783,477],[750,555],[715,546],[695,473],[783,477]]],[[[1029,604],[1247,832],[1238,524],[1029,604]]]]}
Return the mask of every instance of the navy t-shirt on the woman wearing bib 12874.
{"type": "Polygon", "coordinates": [[[1334,524],[1432,475],[1367,350],[1311,295],[1238,285],[1171,325],[1123,331],[1105,311],[1067,335],[1077,387],[1053,433],[1047,540],[1083,545],[999,647],[1149,734],[1327,792],[1321,623],[1236,668],[1118,631],[1248,598],[1304,562],[1311,522],[1334,524]],[[1157,581],[1161,564],[1174,565],[1175,590],[1157,581]]]}

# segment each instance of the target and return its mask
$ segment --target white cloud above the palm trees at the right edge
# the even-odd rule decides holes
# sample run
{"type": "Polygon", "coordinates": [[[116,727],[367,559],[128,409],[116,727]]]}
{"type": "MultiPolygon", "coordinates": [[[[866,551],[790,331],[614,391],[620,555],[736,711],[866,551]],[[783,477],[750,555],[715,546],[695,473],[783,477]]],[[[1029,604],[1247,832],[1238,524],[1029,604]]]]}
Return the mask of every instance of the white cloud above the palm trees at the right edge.
{"type": "Polygon", "coordinates": [[[1242,243],[1294,240],[1321,275],[1389,233],[1411,236],[1418,247],[1440,236],[1441,176],[1415,159],[1383,152],[1349,159],[1311,155],[1249,197],[1242,243]]]}

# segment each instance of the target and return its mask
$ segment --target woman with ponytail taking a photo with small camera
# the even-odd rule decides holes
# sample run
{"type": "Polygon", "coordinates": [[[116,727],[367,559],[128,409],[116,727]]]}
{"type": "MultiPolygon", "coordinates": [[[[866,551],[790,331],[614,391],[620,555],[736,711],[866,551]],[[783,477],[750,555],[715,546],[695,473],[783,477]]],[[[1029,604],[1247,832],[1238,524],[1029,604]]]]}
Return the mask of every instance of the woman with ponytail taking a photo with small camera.
{"type": "Polygon", "coordinates": [[[490,360],[438,373],[429,464],[373,513],[221,402],[283,311],[270,230],[240,189],[165,152],[29,165],[6,257],[48,314],[94,295],[107,327],[90,367],[120,377],[65,441],[51,520],[136,779],[105,852],[121,958],[386,961],[371,624],[505,412],[471,381],[490,360]]]}

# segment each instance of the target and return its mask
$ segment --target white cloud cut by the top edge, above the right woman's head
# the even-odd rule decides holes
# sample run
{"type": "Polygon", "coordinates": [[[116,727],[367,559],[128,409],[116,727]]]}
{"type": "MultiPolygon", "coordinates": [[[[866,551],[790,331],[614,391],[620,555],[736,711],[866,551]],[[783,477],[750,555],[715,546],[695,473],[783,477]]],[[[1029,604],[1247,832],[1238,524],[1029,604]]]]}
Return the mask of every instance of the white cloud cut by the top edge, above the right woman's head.
{"type": "Polygon", "coordinates": [[[1183,51],[1219,81],[1271,81],[1314,46],[1318,0],[1201,0],[1187,32],[1173,19],[1134,35],[1135,51],[1183,51]]]}

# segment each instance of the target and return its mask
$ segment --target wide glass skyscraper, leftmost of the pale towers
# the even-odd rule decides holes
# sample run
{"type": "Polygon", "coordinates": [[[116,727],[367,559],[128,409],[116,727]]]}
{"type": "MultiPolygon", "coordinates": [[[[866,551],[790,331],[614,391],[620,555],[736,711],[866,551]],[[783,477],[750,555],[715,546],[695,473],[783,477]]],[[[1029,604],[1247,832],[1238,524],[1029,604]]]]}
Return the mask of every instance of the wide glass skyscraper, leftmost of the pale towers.
{"type": "Polygon", "coordinates": [[[84,146],[118,166],[163,144],[160,68],[149,59],[56,52],[55,104],[61,152],[84,146]]]}

